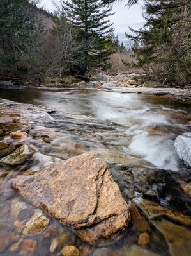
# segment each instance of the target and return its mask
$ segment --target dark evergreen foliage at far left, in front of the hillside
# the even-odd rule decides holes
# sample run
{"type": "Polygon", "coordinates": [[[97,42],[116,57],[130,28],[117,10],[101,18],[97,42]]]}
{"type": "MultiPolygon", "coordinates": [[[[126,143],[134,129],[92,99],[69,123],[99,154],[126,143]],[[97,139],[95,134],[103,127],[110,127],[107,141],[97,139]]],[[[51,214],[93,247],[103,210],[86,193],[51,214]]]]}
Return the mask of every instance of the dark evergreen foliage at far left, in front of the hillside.
{"type": "Polygon", "coordinates": [[[27,74],[27,53],[39,43],[43,28],[27,0],[1,0],[0,76],[27,74]]]}

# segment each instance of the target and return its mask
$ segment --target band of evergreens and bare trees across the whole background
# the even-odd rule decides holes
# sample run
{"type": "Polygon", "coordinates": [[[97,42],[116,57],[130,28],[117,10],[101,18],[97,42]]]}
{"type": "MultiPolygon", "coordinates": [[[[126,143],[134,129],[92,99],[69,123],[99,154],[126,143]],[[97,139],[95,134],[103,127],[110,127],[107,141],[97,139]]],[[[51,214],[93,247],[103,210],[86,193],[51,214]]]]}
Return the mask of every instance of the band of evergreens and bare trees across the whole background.
{"type": "MultiPolygon", "coordinates": [[[[137,2],[125,3],[132,6],[137,2]]],[[[111,69],[117,53],[126,73],[141,69],[148,80],[171,87],[189,85],[190,1],[144,1],[146,23],[140,30],[126,33],[128,46],[121,45],[114,34],[112,3],[62,1],[49,13],[37,7],[38,1],[2,0],[0,79],[40,83],[47,77],[62,80],[68,74],[91,76],[98,70],[120,73],[119,68],[111,69]]]]}

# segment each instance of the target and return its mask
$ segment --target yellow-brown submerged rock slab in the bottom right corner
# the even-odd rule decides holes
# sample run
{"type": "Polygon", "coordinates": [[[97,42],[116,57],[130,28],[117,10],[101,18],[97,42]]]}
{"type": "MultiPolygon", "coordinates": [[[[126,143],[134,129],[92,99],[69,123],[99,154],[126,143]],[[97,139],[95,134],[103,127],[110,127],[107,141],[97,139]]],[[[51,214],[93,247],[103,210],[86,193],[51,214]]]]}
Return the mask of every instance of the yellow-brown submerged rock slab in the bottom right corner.
{"type": "Polygon", "coordinates": [[[142,199],[139,201],[139,207],[148,217],[149,221],[163,235],[169,246],[171,256],[190,255],[190,216],[183,215],[150,200],[142,199]]]}

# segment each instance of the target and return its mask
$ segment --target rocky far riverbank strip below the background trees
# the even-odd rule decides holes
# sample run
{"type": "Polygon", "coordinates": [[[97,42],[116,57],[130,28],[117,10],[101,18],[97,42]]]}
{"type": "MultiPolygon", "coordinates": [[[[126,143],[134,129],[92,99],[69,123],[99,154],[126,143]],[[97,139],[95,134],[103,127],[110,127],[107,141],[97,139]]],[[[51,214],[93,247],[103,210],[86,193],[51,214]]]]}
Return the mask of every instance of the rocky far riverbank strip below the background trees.
{"type": "Polygon", "coordinates": [[[135,74],[135,73],[122,73],[122,74],[105,74],[98,73],[91,78],[86,76],[66,76],[61,80],[58,78],[47,78],[43,83],[34,83],[33,81],[0,81],[0,88],[12,89],[12,88],[107,88],[114,89],[118,87],[126,88],[180,88],[183,90],[190,90],[189,86],[182,87],[180,85],[162,85],[157,81],[148,80],[145,74],[135,74]]]}

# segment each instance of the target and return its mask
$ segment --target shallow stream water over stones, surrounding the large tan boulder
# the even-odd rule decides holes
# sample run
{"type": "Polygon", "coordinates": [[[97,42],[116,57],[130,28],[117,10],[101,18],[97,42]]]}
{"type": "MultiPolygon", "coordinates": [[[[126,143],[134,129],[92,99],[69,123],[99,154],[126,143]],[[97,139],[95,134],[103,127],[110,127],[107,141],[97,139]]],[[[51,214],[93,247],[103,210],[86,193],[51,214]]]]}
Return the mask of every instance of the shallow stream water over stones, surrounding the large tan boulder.
{"type": "Polygon", "coordinates": [[[190,170],[174,149],[176,137],[190,132],[189,104],[166,94],[116,90],[1,90],[0,95],[29,103],[0,101],[1,117],[17,117],[0,124],[0,139],[8,145],[0,149],[1,158],[22,145],[33,152],[16,166],[0,166],[0,255],[61,255],[65,246],[77,247],[83,256],[190,255],[190,170]],[[27,137],[11,139],[17,130],[27,137]],[[86,151],[109,164],[123,197],[139,210],[132,210],[136,218],[116,243],[84,243],[11,188],[19,175],[86,151]],[[145,232],[149,242],[139,245],[145,232]]]}

